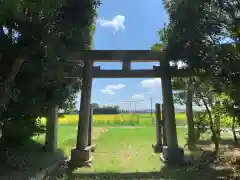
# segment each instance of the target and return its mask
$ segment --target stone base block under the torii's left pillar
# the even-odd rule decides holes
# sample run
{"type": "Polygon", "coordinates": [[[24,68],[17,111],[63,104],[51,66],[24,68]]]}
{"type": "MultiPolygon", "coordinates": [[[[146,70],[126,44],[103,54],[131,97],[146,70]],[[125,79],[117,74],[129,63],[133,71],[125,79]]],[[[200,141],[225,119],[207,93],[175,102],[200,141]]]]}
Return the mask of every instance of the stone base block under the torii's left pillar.
{"type": "Polygon", "coordinates": [[[74,167],[91,167],[92,159],[91,146],[85,149],[73,149],[71,152],[70,164],[74,167]]]}

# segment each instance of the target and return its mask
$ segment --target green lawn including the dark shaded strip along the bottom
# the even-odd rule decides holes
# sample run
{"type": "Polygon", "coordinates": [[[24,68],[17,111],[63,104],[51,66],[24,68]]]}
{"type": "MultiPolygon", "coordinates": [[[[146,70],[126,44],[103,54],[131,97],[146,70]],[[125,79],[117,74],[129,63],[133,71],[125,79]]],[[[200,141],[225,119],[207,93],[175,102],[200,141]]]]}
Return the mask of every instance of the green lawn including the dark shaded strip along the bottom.
{"type": "MultiPolygon", "coordinates": [[[[67,156],[75,148],[77,126],[60,125],[58,145],[67,156]]],[[[186,128],[178,127],[180,146],[185,144],[186,128]]],[[[155,127],[94,126],[93,143],[97,144],[92,153],[94,159],[91,168],[78,168],[73,174],[64,173],[64,169],[56,171],[49,179],[65,180],[108,180],[108,179],[217,179],[220,171],[211,168],[194,170],[194,168],[167,167],[155,154],[152,144],[156,142],[155,127]]],[[[39,138],[40,141],[43,137],[39,138]]],[[[189,152],[186,152],[188,154],[189,152]]],[[[227,177],[225,174],[224,176],[227,177]]],[[[229,179],[228,177],[225,179],[229,179]]]]}

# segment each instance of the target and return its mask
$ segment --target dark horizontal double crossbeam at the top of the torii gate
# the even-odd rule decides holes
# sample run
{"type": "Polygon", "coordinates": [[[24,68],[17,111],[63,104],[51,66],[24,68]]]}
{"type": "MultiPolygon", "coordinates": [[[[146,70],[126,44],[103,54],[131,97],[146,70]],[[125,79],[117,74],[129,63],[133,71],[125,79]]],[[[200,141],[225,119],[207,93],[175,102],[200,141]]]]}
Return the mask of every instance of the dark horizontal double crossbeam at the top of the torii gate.
{"type": "MultiPolygon", "coordinates": [[[[68,60],[71,63],[79,63],[82,60],[92,60],[94,62],[121,62],[121,70],[103,70],[100,66],[93,66],[93,78],[154,78],[162,77],[164,69],[162,66],[153,66],[152,69],[132,70],[132,62],[162,62],[164,59],[163,52],[149,50],[95,50],[82,51],[68,60]]],[[[76,78],[82,75],[82,68],[76,68],[71,73],[66,73],[66,78],[76,78]]],[[[199,76],[200,73],[189,69],[178,69],[177,67],[169,68],[168,72],[172,77],[189,77],[199,76]]]]}

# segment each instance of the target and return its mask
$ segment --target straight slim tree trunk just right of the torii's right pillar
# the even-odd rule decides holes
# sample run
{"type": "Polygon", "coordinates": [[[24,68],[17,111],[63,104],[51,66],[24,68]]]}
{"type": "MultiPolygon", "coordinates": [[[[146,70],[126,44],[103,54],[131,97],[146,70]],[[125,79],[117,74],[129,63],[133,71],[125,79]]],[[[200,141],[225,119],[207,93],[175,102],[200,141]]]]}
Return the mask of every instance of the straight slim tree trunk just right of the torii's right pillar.
{"type": "Polygon", "coordinates": [[[192,90],[192,80],[188,79],[187,86],[187,97],[186,97],[186,115],[187,115],[187,125],[188,125],[188,147],[193,147],[195,145],[195,134],[194,134],[194,123],[193,123],[193,90],[192,90]]]}

